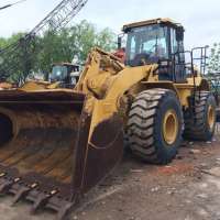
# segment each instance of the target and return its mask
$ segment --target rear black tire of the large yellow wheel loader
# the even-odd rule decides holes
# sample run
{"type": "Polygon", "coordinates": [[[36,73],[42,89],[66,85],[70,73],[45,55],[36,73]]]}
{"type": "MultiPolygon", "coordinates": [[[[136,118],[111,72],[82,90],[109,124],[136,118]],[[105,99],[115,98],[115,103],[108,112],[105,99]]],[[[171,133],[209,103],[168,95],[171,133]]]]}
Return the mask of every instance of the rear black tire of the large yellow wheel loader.
{"type": "MultiPolygon", "coordinates": [[[[193,107],[191,107],[193,108],[193,107]]],[[[196,94],[195,109],[184,112],[184,138],[193,141],[210,141],[216,130],[216,100],[209,91],[196,94]],[[213,125],[209,125],[209,108],[213,109],[213,125]]]]}

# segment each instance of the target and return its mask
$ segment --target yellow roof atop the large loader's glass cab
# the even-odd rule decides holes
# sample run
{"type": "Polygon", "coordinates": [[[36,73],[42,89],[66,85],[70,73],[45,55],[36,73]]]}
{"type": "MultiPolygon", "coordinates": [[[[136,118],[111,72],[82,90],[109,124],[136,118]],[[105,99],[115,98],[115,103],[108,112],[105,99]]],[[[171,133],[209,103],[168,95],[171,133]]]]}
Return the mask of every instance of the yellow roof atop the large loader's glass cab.
{"type": "Polygon", "coordinates": [[[133,29],[133,28],[147,26],[147,25],[152,25],[152,24],[166,24],[166,25],[170,25],[170,26],[174,26],[174,28],[182,26],[182,24],[175,22],[172,19],[168,19],[168,18],[161,19],[161,18],[158,18],[158,19],[152,19],[152,20],[125,24],[125,25],[123,25],[122,31],[128,32],[130,29],[133,29]]]}

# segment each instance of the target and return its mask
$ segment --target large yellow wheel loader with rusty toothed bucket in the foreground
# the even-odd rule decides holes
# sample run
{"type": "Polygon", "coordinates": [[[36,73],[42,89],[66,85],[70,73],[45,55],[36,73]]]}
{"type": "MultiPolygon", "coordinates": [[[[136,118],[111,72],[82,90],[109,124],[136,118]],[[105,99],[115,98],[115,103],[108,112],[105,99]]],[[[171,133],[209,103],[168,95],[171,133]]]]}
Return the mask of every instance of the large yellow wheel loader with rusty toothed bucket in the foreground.
{"type": "Polygon", "coordinates": [[[125,64],[95,48],[75,89],[0,92],[0,193],[13,205],[28,200],[33,213],[52,209],[66,219],[120,162],[124,142],[163,165],[183,138],[212,139],[216,101],[184,50],[184,28],[155,19],[123,33],[125,64]]]}

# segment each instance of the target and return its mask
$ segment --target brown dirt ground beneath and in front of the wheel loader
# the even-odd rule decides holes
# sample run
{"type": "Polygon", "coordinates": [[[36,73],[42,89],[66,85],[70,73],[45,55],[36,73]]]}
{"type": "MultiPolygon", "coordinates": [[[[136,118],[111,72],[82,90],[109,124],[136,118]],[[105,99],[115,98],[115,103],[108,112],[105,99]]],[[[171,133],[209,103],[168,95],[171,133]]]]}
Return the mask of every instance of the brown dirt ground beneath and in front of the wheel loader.
{"type": "MultiPolygon", "coordinates": [[[[53,220],[0,198],[0,220],[53,220]]],[[[124,154],[116,170],[87,195],[72,220],[220,220],[220,133],[212,142],[184,142],[168,166],[124,154]]]]}

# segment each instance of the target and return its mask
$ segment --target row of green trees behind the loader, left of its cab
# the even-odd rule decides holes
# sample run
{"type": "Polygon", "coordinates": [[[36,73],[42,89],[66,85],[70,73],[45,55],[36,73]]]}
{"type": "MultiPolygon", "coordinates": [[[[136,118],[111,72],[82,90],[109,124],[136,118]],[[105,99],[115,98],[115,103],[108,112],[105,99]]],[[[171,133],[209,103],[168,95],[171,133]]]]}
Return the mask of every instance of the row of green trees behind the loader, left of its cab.
{"type": "MultiPolygon", "coordinates": [[[[0,48],[16,42],[23,35],[24,33],[18,33],[9,38],[0,37],[0,48]]],[[[57,33],[48,30],[43,36],[36,36],[29,47],[21,46],[10,56],[3,57],[3,65],[0,64],[0,76],[7,72],[10,80],[24,81],[33,72],[47,75],[53,63],[72,62],[75,56],[78,57],[79,63],[84,63],[92,47],[98,46],[111,52],[116,50],[114,42],[116,34],[111,30],[98,31],[87,21],[65,28],[57,33]]]]}

